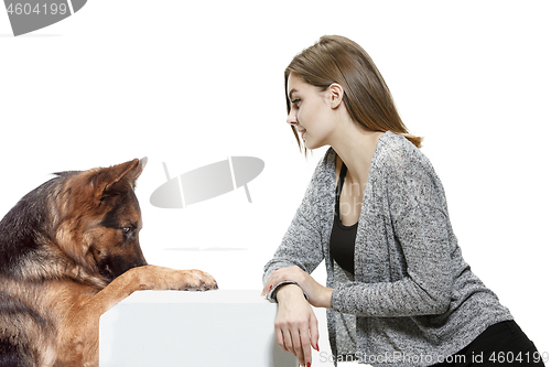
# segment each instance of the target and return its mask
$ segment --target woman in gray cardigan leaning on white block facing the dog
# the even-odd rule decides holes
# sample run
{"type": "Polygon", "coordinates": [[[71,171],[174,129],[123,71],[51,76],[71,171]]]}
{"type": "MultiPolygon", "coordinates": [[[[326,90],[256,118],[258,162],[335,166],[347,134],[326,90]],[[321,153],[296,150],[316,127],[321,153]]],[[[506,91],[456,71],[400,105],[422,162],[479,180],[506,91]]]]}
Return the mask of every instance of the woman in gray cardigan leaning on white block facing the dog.
{"type": "Polygon", "coordinates": [[[317,306],[335,364],[494,365],[514,354],[543,365],[463,260],[442,184],[368,54],[323,36],[288,66],[285,91],[299,144],[331,148],[264,267],[278,344],[310,366],[317,306]],[[310,276],[323,259],[327,287],[310,276]]]}

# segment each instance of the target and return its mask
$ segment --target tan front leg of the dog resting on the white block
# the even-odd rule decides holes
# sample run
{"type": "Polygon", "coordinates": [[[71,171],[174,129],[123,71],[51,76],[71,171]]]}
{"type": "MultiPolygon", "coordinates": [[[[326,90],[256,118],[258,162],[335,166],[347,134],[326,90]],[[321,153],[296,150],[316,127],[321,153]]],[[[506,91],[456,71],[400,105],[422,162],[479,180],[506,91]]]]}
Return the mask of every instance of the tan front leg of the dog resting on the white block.
{"type": "Polygon", "coordinates": [[[58,337],[60,360],[67,366],[97,366],[99,317],[134,291],[206,291],[217,288],[214,278],[201,270],[173,270],[156,266],[130,269],[94,296],[71,307],[58,337]]]}

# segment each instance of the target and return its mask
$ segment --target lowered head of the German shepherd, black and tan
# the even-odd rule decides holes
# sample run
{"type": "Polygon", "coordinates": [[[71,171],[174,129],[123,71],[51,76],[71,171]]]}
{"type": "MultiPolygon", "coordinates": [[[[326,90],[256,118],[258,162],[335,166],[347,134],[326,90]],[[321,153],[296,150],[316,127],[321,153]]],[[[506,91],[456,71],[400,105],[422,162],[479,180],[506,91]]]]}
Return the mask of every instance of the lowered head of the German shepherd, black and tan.
{"type": "Polygon", "coordinates": [[[54,197],[53,234],[62,251],[87,272],[108,282],[147,265],[140,248],[141,212],[136,180],[147,159],[111,168],[58,173],[63,185],[54,197]]]}

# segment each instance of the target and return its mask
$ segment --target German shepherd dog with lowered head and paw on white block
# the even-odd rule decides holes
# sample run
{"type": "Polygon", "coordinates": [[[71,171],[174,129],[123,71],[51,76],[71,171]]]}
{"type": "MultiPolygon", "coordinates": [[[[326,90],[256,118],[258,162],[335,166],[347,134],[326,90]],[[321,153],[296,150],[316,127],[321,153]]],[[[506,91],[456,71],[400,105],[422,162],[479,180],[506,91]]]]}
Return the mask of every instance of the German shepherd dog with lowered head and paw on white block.
{"type": "Polygon", "coordinates": [[[0,366],[97,366],[99,317],[138,290],[209,290],[149,266],[134,195],[147,159],[56,173],[0,222],[0,366]]]}

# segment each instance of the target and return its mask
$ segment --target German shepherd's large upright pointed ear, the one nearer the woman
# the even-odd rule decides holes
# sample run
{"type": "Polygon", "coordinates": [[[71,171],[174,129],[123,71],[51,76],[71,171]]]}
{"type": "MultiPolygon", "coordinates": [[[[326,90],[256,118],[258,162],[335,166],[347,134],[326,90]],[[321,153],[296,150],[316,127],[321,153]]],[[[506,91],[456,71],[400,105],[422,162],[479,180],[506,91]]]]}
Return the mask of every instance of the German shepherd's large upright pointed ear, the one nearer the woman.
{"type": "Polygon", "coordinates": [[[147,163],[147,158],[141,160],[134,159],[107,169],[97,170],[90,177],[90,183],[96,192],[96,198],[101,201],[105,196],[112,194],[116,184],[122,180],[126,180],[134,187],[136,180],[138,180],[147,163]]]}

